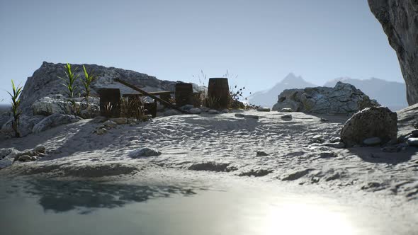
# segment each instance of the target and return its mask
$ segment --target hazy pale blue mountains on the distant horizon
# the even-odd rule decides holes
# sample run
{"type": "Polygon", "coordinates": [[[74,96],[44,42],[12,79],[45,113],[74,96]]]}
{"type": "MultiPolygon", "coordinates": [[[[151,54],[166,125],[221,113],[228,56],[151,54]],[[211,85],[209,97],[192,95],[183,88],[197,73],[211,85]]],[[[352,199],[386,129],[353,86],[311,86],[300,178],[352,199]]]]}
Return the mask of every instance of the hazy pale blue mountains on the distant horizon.
{"type": "MultiPolygon", "coordinates": [[[[334,87],[338,81],[352,84],[366,93],[370,98],[377,100],[381,105],[388,106],[391,110],[400,110],[408,106],[406,87],[404,83],[385,81],[383,79],[351,79],[341,77],[327,81],[323,86],[334,87]]],[[[277,103],[277,96],[283,90],[291,88],[306,88],[317,86],[305,81],[301,76],[290,73],[273,88],[266,91],[258,91],[249,96],[249,102],[255,105],[271,107],[277,103]]]]}

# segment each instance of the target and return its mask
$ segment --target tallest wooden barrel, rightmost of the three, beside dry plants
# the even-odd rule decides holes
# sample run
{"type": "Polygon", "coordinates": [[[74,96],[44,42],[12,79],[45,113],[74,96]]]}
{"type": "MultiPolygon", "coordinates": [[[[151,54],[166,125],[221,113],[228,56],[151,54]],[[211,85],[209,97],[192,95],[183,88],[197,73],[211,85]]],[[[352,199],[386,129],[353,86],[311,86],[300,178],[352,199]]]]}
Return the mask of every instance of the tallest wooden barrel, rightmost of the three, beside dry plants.
{"type": "Polygon", "coordinates": [[[212,100],[212,102],[209,103],[213,106],[208,108],[228,108],[228,104],[230,102],[230,86],[228,85],[228,79],[209,79],[208,98],[212,100]]]}

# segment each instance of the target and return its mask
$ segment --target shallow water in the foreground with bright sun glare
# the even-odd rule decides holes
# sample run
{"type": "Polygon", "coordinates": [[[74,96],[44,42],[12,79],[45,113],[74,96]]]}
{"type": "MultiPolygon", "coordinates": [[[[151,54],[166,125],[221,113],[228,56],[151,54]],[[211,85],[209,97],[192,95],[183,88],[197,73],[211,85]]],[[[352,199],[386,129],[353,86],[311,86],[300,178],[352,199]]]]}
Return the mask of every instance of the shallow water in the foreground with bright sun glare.
{"type": "Polygon", "coordinates": [[[416,234],[381,208],[271,185],[0,181],[2,234],[416,234]]]}

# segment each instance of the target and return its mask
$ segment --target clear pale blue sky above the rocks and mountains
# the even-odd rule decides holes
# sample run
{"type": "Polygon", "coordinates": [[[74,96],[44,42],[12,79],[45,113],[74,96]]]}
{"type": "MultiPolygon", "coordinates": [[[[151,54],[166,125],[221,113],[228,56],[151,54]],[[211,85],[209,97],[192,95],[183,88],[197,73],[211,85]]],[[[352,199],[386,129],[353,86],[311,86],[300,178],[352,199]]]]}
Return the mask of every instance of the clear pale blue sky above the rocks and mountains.
{"type": "Polygon", "coordinates": [[[229,71],[252,92],[290,72],[403,82],[367,0],[0,0],[0,101],[43,61],[195,83],[229,71]]]}

